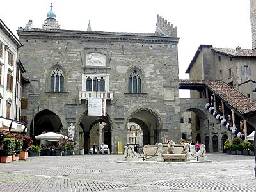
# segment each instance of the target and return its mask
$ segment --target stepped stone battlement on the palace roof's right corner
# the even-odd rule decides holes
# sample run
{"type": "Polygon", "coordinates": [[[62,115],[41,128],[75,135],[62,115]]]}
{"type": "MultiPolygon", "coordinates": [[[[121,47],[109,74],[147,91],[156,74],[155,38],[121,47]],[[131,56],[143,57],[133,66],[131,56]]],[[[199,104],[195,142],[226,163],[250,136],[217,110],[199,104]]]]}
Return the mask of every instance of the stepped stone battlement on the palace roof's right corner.
{"type": "Polygon", "coordinates": [[[157,15],[156,33],[177,37],[177,27],[173,28],[173,24],[170,24],[163,17],[157,15]]]}

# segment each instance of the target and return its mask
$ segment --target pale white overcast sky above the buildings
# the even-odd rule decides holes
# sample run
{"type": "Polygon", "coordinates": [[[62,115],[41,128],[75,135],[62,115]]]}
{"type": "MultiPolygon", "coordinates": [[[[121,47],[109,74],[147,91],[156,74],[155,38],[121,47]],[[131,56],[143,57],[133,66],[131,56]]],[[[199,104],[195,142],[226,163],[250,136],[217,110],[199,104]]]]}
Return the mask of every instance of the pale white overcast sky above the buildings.
{"type": "Polygon", "coordinates": [[[29,19],[42,28],[51,3],[60,28],[69,30],[85,31],[90,20],[92,31],[151,33],[159,14],[177,26],[179,79],[189,79],[199,45],[252,49],[250,0],[9,0],[1,2],[0,19],[14,35],[29,19]]]}

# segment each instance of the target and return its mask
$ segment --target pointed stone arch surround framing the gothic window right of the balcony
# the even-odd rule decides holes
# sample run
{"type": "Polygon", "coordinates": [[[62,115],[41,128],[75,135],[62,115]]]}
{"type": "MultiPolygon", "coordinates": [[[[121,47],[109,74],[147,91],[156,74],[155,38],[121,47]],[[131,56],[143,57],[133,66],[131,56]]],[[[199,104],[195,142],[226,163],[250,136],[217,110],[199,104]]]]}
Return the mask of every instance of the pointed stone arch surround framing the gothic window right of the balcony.
{"type": "Polygon", "coordinates": [[[137,65],[133,65],[127,69],[127,72],[125,74],[125,84],[126,86],[126,92],[129,93],[129,77],[131,76],[132,72],[138,72],[140,74],[141,79],[141,93],[145,93],[145,72],[141,67],[138,67],[137,65]]]}

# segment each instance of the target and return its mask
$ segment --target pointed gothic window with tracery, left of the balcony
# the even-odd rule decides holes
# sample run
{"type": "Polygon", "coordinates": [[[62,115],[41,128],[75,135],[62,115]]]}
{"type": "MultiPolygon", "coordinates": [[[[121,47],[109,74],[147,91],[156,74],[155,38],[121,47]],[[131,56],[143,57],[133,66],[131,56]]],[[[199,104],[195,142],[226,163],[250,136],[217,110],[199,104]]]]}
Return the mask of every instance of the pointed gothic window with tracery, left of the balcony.
{"type": "Polygon", "coordinates": [[[50,92],[64,92],[64,75],[59,67],[52,70],[50,83],[50,92]]]}

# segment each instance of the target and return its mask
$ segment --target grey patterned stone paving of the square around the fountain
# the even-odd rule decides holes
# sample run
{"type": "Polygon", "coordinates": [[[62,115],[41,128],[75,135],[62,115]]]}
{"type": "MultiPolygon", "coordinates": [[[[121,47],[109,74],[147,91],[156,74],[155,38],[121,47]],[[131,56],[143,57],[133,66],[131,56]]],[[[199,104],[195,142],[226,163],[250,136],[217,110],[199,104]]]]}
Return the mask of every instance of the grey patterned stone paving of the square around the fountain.
{"type": "Polygon", "coordinates": [[[0,191],[256,191],[254,156],[209,163],[119,163],[122,155],[29,157],[0,163],[0,191]]]}

